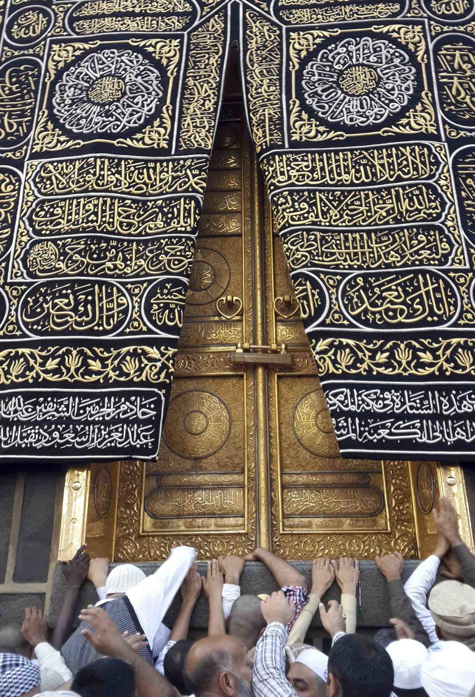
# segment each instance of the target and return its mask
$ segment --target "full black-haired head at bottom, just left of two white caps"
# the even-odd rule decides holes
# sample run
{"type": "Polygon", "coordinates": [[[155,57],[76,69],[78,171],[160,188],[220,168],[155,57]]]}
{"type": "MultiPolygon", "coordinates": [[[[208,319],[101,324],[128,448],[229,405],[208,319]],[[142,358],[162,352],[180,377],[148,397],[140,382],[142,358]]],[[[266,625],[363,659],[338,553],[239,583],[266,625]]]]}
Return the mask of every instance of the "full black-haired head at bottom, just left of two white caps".
{"type": "Polygon", "coordinates": [[[374,641],[348,634],[328,657],[327,697],[389,697],[394,668],[389,653],[374,641]]]}

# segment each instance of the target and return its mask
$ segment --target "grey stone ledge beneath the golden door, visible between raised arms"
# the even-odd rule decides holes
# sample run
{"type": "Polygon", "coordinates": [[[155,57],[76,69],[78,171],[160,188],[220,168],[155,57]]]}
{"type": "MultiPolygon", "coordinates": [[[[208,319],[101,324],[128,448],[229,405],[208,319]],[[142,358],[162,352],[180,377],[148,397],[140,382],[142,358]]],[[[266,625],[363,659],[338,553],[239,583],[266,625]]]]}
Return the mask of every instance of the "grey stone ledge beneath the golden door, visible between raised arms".
{"type": "MultiPolygon", "coordinates": [[[[409,560],[405,562],[405,569],[403,572],[403,581],[409,578],[410,574],[419,565],[419,561],[409,560]]],[[[112,567],[118,566],[117,564],[112,564],[112,567]]],[[[147,575],[153,574],[157,567],[160,566],[159,562],[149,562],[137,564],[139,568],[147,575]]],[[[299,570],[307,579],[310,587],[311,581],[311,562],[293,562],[293,566],[299,570]]],[[[361,607],[362,616],[358,617],[358,626],[361,628],[374,629],[376,627],[385,627],[389,620],[389,605],[387,602],[387,592],[386,592],[386,581],[384,577],[378,571],[375,562],[373,561],[361,561],[359,562],[359,568],[361,571],[361,607]]],[[[198,562],[198,570],[201,576],[205,576],[206,564],[205,562],[198,562]]],[[[274,590],[279,590],[279,586],[272,574],[268,569],[260,562],[246,562],[244,567],[244,572],[241,576],[241,592],[244,593],[254,593],[258,595],[260,593],[271,593],[274,590]]],[[[52,587],[52,597],[49,606],[49,623],[54,625],[56,617],[59,613],[59,608],[63,601],[65,591],[65,581],[63,574],[61,572],[61,567],[58,565],[54,573],[53,587],[52,587]]],[[[328,592],[323,598],[325,603],[329,600],[339,599],[340,592],[338,585],[334,583],[332,588],[329,588],[328,592]]],[[[98,597],[95,592],[95,588],[90,581],[86,581],[81,591],[79,593],[78,599],[78,612],[82,607],[86,607],[88,604],[94,604],[97,602],[98,597]]],[[[176,620],[178,611],[180,609],[180,594],[174,599],[168,613],[166,613],[165,623],[170,627],[176,620]]],[[[316,615],[313,618],[311,627],[320,627],[320,620],[316,615]]],[[[192,620],[190,622],[190,627],[193,629],[205,629],[208,627],[208,601],[204,594],[201,595],[200,599],[196,603],[194,612],[192,615],[192,620]]]]}

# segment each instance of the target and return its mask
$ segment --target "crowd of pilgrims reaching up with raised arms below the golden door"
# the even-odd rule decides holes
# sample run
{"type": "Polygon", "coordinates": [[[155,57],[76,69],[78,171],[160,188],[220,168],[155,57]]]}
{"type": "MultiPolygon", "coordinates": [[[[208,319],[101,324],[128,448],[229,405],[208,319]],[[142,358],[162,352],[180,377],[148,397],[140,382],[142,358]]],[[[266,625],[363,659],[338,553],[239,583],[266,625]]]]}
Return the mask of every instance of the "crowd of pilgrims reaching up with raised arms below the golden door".
{"type": "Polygon", "coordinates": [[[357,560],[314,560],[308,585],[262,548],[212,560],[202,577],[187,546],[173,549],[150,576],[129,564],[109,573],[109,560],[90,559],[81,547],[63,565],[65,596],[51,636],[33,607],[22,625],[0,627],[0,697],[475,696],[475,557],[449,500],[439,500],[433,515],[435,549],[405,583],[399,553],[375,558],[391,617],[372,635],[357,632],[357,560]],[[262,562],[281,590],[242,595],[246,560],[262,562]],[[97,602],[78,617],[86,579],[97,602]],[[341,600],[325,603],[333,583],[341,600]],[[169,629],[162,620],[178,592],[169,629]],[[192,639],[202,592],[208,636],[192,639]],[[329,635],[327,653],[305,643],[316,613],[329,635]]]}

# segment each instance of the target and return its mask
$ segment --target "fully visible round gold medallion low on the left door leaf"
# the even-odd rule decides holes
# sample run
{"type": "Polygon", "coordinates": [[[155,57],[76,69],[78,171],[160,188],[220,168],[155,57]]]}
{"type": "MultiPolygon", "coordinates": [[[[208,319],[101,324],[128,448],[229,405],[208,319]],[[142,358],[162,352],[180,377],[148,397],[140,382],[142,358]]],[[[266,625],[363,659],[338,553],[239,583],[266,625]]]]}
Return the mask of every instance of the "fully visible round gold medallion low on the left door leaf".
{"type": "Polygon", "coordinates": [[[201,459],[223,447],[230,428],[231,414],[224,401],[211,392],[189,390],[171,400],[163,438],[176,455],[201,459]]]}

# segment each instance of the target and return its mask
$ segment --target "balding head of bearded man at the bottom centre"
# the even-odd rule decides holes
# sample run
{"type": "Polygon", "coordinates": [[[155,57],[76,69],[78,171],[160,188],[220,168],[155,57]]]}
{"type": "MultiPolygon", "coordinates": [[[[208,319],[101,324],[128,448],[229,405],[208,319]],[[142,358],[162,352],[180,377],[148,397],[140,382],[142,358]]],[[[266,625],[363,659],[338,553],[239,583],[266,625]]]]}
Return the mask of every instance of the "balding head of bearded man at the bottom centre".
{"type": "Polygon", "coordinates": [[[252,661],[234,636],[208,637],[189,650],[185,669],[187,694],[195,697],[252,697],[252,661]]]}

